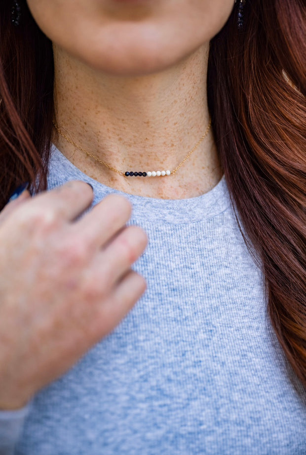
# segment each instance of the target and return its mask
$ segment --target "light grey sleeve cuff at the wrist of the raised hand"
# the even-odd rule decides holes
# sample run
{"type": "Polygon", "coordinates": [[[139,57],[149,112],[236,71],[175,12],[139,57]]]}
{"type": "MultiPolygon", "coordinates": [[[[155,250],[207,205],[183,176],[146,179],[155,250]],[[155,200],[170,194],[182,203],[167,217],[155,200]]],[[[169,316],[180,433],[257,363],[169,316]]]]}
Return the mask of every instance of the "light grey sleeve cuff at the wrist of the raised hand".
{"type": "Polygon", "coordinates": [[[31,402],[21,409],[0,411],[0,455],[14,454],[15,445],[30,409],[31,402]]]}

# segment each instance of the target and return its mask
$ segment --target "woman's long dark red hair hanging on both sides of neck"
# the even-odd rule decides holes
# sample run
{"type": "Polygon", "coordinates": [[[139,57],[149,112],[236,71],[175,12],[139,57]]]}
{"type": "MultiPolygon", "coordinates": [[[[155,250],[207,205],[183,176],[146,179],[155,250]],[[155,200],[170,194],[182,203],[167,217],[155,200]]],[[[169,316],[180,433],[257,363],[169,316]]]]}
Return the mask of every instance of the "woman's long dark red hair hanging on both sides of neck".
{"type": "MultiPolygon", "coordinates": [[[[46,187],[53,54],[23,4],[19,27],[0,0],[0,207],[22,182],[46,187]]],[[[247,1],[212,40],[208,97],[220,161],[269,315],[306,387],[306,6],[247,1]],[[256,254],[255,254],[256,253],[256,254]]]]}

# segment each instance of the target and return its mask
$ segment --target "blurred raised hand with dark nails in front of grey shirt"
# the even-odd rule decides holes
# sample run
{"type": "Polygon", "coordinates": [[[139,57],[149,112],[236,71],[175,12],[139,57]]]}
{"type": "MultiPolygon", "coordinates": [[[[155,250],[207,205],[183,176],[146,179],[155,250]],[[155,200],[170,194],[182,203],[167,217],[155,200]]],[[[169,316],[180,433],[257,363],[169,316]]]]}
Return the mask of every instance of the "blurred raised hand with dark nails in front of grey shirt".
{"type": "Polygon", "coordinates": [[[18,409],[108,334],[146,288],[131,265],[144,251],[125,227],[129,202],[92,202],[84,182],[30,198],[0,214],[0,409],[18,409]]]}

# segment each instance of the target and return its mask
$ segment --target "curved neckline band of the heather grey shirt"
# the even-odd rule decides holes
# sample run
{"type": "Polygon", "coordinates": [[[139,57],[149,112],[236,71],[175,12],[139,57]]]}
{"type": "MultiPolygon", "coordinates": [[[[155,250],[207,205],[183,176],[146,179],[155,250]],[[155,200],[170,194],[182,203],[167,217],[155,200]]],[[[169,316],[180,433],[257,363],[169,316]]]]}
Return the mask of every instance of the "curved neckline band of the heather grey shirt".
{"type": "Polygon", "coordinates": [[[97,182],[81,172],[55,145],[51,149],[49,163],[49,186],[60,185],[71,180],[90,183],[94,189],[94,204],[110,193],[121,194],[133,206],[133,218],[156,223],[188,224],[207,220],[230,206],[229,190],[225,176],[210,191],[188,199],[156,199],[124,193],[103,183],[97,182]]]}

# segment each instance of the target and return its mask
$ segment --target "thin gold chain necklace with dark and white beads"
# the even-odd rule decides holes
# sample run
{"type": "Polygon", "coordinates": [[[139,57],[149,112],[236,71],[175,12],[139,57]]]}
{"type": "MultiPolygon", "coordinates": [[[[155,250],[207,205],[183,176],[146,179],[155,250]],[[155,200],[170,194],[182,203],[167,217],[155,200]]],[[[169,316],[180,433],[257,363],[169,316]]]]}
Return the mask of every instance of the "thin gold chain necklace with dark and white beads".
{"type": "Polygon", "coordinates": [[[208,132],[210,130],[210,126],[211,126],[211,119],[209,119],[209,122],[208,122],[208,126],[206,128],[206,131],[205,133],[203,134],[203,136],[197,141],[197,143],[194,145],[194,147],[191,148],[191,150],[188,152],[188,154],[185,156],[185,158],[183,159],[183,161],[180,162],[180,164],[177,165],[177,167],[175,169],[173,169],[173,171],[170,171],[170,170],[166,170],[166,171],[146,171],[146,172],[134,172],[134,171],[119,171],[118,169],[115,169],[114,167],[110,166],[108,163],[106,163],[105,161],[101,160],[99,157],[93,155],[92,153],[88,152],[87,150],[85,150],[83,147],[81,147],[80,145],[76,144],[76,142],[74,142],[72,139],[70,139],[69,137],[67,137],[63,132],[62,130],[60,130],[60,128],[58,127],[57,123],[53,122],[53,125],[54,125],[54,128],[55,130],[57,131],[58,134],[60,134],[62,137],[64,137],[64,139],[67,140],[67,142],[70,142],[75,148],[77,148],[78,150],[81,150],[82,152],[84,152],[87,156],[90,156],[91,158],[93,158],[95,161],[97,161],[98,163],[102,164],[103,166],[105,166],[106,168],[110,169],[110,171],[114,171],[116,172],[117,174],[119,174],[120,176],[124,176],[124,177],[165,177],[165,176],[170,176],[171,174],[175,174],[181,166],[183,166],[183,164],[185,163],[185,161],[188,160],[188,158],[191,156],[191,154],[194,152],[194,150],[200,145],[200,143],[205,139],[205,137],[208,135],[208,132]]]}

